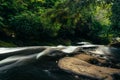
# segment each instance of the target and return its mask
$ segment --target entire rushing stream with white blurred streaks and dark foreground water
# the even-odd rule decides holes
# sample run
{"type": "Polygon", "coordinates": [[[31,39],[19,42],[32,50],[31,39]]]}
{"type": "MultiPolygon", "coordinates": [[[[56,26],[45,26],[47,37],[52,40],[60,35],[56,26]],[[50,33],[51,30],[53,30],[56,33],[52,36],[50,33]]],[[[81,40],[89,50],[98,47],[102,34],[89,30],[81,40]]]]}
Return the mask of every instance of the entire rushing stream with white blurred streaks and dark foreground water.
{"type": "Polygon", "coordinates": [[[120,56],[119,48],[93,44],[0,48],[0,80],[88,80],[64,72],[57,65],[59,59],[81,51],[106,58],[120,56]]]}

